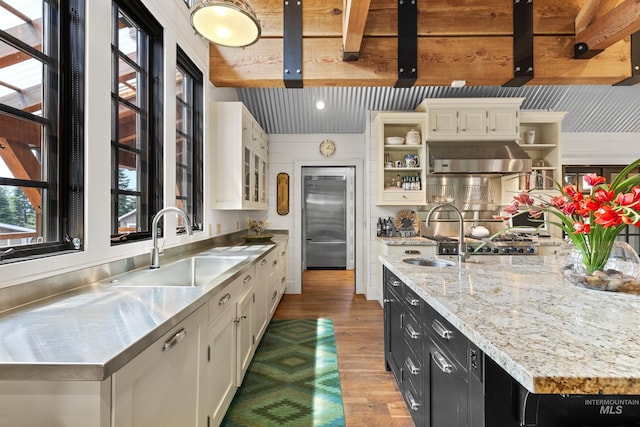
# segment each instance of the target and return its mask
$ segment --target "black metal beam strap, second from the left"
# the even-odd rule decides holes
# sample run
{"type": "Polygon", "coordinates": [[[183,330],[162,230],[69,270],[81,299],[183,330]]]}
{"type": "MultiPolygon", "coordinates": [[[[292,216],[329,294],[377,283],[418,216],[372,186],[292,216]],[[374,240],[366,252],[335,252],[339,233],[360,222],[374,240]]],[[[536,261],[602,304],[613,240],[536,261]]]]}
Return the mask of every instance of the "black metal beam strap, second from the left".
{"type": "Polygon", "coordinates": [[[418,0],[398,1],[398,80],[411,87],[418,78],[418,0]]]}

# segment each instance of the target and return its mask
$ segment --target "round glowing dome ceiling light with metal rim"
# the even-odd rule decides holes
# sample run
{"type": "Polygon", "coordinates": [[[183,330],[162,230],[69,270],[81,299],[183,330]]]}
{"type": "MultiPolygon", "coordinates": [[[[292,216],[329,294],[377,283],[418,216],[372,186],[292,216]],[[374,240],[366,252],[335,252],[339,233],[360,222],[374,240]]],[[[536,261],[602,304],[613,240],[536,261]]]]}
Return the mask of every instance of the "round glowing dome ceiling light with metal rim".
{"type": "Polygon", "coordinates": [[[249,0],[201,0],[191,8],[191,25],[221,46],[249,46],[260,38],[260,21],[249,0]]]}

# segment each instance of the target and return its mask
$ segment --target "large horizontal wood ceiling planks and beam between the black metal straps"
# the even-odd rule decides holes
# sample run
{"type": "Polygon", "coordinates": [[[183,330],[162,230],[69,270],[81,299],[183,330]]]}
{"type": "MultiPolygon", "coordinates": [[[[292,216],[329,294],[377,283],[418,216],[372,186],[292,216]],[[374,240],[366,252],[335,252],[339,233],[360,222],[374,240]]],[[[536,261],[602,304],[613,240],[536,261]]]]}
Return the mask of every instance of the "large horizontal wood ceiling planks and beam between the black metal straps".
{"type": "MultiPolygon", "coordinates": [[[[414,86],[501,86],[514,78],[514,2],[533,1],[534,77],[526,84],[611,85],[633,75],[637,0],[416,0],[414,86]],[[588,54],[576,59],[576,43],[588,54]]],[[[217,87],[283,87],[283,0],[253,0],[262,38],[210,46],[217,87]]],[[[393,86],[398,6],[390,0],[303,0],[305,87],[393,86]],[[343,24],[344,21],[344,24],[343,24]],[[344,47],[343,47],[344,46],[344,47]]],[[[584,52],[583,52],[584,53],[584,52]]]]}

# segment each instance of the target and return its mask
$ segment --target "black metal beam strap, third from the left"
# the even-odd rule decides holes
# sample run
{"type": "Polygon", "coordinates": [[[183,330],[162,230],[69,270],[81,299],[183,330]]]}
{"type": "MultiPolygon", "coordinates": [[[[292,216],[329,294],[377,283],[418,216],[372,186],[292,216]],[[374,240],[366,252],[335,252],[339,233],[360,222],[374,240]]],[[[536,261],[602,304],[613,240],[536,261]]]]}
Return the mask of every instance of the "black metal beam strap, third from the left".
{"type": "Polygon", "coordinates": [[[533,76],[533,0],[514,0],[513,79],[503,86],[522,86],[533,76]]]}

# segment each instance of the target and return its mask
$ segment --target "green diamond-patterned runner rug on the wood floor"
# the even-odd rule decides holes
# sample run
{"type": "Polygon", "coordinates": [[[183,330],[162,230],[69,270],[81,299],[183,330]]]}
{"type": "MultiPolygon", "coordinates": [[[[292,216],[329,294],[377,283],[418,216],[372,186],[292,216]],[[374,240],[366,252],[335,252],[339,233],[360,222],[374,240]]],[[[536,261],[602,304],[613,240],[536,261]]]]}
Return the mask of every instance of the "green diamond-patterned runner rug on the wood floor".
{"type": "Polygon", "coordinates": [[[331,319],[272,320],[222,426],[344,426],[331,319]]]}

